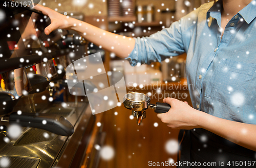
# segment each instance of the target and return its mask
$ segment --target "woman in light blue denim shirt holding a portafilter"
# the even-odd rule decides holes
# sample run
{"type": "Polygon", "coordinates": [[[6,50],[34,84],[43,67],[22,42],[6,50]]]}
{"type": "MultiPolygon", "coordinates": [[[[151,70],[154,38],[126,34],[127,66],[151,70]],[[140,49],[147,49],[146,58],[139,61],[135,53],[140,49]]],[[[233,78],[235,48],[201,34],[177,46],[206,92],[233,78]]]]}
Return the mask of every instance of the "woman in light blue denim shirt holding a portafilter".
{"type": "Polygon", "coordinates": [[[75,30],[103,49],[126,58],[133,66],[186,52],[187,82],[194,85],[189,88],[194,108],[166,98],[163,101],[172,108],[157,114],[167,126],[189,130],[184,136],[180,134],[183,139],[180,159],[197,161],[201,166],[204,162],[215,162],[211,166],[253,167],[256,166],[252,165],[256,157],[255,5],[251,0],[210,2],[167,29],[136,39],[106,32],[46,7],[37,5],[35,9],[51,19],[46,34],[55,29],[75,30]]]}

